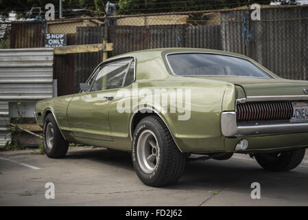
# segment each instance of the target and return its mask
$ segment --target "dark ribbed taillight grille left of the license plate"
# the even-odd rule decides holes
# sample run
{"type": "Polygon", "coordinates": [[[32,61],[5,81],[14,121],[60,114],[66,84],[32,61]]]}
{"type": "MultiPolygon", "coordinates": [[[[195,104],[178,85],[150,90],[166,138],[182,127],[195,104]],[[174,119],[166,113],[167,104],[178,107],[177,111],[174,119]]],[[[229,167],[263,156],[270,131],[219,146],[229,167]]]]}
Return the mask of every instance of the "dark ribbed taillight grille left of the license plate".
{"type": "Polygon", "coordinates": [[[288,120],[293,115],[291,102],[250,102],[237,104],[237,121],[288,120]]]}

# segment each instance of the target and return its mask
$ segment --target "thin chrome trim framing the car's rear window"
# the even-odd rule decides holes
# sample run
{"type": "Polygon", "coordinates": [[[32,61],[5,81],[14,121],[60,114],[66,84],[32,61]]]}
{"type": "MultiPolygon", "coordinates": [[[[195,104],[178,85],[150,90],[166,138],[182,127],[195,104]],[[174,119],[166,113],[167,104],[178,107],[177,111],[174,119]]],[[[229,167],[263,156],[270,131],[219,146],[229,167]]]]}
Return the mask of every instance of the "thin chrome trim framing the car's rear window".
{"type": "MultiPolygon", "coordinates": [[[[269,78],[274,78],[276,79],[276,77],[272,76],[271,74],[269,74],[268,72],[266,72],[264,69],[261,69],[261,67],[259,67],[258,65],[256,65],[254,62],[250,61],[248,58],[243,58],[243,57],[240,57],[240,56],[235,56],[235,55],[230,55],[230,54],[222,54],[222,53],[218,53],[218,52],[171,52],[171,53],[167,53],[165,54],[165,61],[167,61],[167,64],[168,64],[168,67],[169,69],[171,70],[171,73],[174,75],[174,76],[179,76],[179,75],[176,75],[174,73],[174,70],[172,69],[170,63],[169,63],[169,60],[168,60],[168,55],[172,55],[172,54],[215,54],[215,55],[222,55],[222,56],[231,56],[231,57],[235,57],[235,58],[241,58],[243,60],[246,60],[250,63],[252,63],[255,67],[257,67],[258,69],[260,69],[265,75],[269,76],[269,78]]],[[[226,77],[224,75],[197,75],[197,76],[193,76],[193,75],[183,75],[183,77],[198,77],[198,76],[222,76],[222,77],[226,77]]],[[[252,77],[252,76],[230,76],[230,77],[247,77],[247,78],[263,78],[263,77],[252,77]]],[[[267,78],[264,78],[264,79],[267,79],[267,78]]]]}

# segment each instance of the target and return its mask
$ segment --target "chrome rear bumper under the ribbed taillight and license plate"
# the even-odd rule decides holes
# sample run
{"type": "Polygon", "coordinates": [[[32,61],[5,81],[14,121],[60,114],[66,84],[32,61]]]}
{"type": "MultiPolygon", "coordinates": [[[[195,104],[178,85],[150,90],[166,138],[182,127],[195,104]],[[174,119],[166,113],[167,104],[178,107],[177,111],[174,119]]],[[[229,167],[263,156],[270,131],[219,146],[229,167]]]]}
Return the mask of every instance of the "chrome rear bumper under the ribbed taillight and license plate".
{"type": "Polygon", "coordinates": [[[237,125],[235,111],[222,113],[221,118],[222,134],[226,137],[261,135],[276,133],[303,133],[308,132],[308,122],[293,122],[279,124],[254,124],[249,126],[237,125]]]}

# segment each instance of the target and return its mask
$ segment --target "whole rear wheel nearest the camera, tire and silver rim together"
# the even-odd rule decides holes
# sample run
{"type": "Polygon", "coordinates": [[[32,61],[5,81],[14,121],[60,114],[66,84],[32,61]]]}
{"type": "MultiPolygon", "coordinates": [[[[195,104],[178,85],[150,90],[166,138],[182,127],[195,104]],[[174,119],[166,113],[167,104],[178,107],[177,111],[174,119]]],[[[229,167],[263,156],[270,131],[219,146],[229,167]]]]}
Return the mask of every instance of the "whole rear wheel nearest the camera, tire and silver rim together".
{"type": "Polygon", "coordinates": [[[132,136],[132,163],[139,179],[148,186],[174,184],[184,173],[181,153],[169,129],[158,116],[147,116],[132,136]]]}

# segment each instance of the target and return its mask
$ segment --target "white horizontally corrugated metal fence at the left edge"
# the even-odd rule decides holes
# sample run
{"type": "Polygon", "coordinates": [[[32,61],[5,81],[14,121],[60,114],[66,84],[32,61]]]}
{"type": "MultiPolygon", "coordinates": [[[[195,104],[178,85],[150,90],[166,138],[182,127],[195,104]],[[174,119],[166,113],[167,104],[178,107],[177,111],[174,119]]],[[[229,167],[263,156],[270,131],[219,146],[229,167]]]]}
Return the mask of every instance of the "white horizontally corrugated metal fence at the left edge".
{"type": "Polygon", "coordinates": [[[53,63],[53,49],[0,50],[0,145],[7,141],[9,102],[52,97],[53,63]]]}

